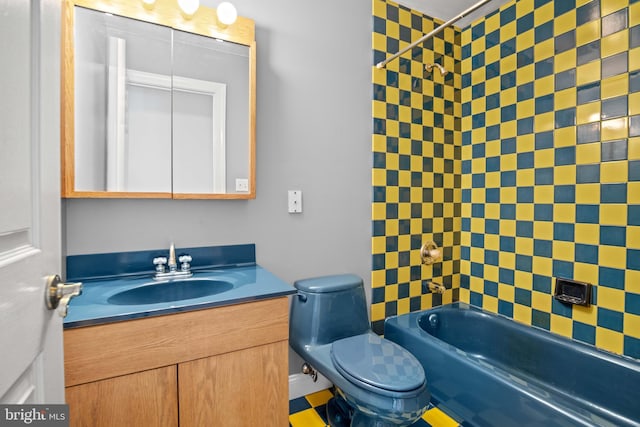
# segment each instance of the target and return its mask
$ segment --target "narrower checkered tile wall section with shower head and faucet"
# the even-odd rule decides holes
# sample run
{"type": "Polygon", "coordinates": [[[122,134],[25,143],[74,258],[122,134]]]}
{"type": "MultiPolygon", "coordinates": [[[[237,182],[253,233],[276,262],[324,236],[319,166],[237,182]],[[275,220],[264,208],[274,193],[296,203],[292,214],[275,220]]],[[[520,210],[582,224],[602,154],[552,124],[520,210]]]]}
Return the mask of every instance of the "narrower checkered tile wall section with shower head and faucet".
{"type": "MultiPolygon", "coordinates": [[[[440,21],[373,0],[374,64],[440,21]]],[[[423,47],[373,67],[373,301],[371,320],[458,299],[461,231],[460,31],[449,28],[423,47]],[[426,63],[450,72],[427,72],[426,63]],[[422,266],[420,247],[434,240],[442,261],[422,266]],[[425,289],[433,279],[445,294],[425,289]]]]}

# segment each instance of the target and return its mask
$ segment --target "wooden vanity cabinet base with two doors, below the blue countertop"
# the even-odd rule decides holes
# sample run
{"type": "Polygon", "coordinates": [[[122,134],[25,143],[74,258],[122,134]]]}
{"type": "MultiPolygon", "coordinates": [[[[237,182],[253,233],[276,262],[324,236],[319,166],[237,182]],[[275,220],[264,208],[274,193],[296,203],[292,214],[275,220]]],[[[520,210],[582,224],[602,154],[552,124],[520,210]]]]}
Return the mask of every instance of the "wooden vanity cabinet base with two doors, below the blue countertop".
{"type": "Polygon", "coordinates": [[[64,331],[75,426],[286,426],[286,297],[64,331]]]}

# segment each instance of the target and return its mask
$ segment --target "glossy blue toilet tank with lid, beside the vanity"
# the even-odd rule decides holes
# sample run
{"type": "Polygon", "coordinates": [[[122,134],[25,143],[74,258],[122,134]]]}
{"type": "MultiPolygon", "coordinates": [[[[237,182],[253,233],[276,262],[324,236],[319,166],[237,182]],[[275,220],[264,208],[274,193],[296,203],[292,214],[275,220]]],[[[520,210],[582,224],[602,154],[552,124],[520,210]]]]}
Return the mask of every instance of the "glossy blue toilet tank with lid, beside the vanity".
{"type": "Polygon", "coordinates": [[[301,352],[370,330],[362,279],[353,274],[322,276],[294,283],[289,342],[301,352]]]}

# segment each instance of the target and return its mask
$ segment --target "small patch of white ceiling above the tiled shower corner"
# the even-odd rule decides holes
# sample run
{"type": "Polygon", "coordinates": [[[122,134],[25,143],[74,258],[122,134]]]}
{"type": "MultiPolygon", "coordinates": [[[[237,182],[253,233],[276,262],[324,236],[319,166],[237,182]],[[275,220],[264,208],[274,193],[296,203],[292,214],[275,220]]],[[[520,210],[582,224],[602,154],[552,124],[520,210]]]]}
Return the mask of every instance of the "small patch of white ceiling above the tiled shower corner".
{"type": "MultiPolygon", "coordinates": [[[[432,18],[448,21],[460,15],[462,12],[478,3],[479,0],[397,0],[397,2],[410,9],[422,12],[432,18]]],[[[465,16],[454,25],[464,28],[476,19],[487,15],[511,0],[492,0],[475,12],[465,16]]]]}

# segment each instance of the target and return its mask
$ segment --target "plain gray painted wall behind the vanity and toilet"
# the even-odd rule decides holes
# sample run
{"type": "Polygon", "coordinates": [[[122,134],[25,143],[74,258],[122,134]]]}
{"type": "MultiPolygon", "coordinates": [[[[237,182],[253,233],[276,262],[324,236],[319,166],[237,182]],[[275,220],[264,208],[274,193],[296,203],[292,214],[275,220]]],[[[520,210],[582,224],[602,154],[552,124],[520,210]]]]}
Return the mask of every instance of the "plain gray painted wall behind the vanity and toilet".
{"type": "Polygon", "coordinates": [[[255,243],[289,283],[352,272],[368,289],[371,1],[234,4],[256,22],[256,199],[66,200],[63,254],[255,243]],[[302,190],[302,214],[287,213],[287,190],[302,190]]]}

